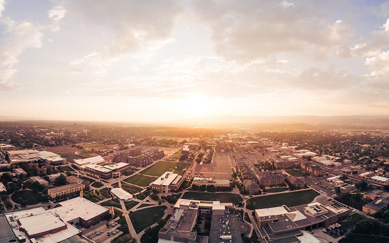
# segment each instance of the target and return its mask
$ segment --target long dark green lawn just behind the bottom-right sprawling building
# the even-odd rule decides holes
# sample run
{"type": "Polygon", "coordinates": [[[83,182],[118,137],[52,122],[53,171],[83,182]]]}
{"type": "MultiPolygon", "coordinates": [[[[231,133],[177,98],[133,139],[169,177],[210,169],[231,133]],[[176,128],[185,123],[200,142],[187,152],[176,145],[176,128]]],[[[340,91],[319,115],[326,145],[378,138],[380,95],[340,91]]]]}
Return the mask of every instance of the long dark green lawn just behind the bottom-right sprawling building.
{"type": "Polygon", "coordinates": [[[320,194],[314,190],[305,190],[253,197],[248,199],[247,208],[273,208],[282,205],[294,207],[311,203],[318,195],[320,194]]]}

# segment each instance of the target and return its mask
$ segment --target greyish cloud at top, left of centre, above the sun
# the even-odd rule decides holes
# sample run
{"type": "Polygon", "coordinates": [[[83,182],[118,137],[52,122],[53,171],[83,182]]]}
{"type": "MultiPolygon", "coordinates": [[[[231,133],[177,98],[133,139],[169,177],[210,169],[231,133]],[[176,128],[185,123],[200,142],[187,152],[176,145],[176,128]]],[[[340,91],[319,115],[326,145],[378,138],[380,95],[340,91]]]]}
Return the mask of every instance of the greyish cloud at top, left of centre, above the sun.
{"type": "Polygon", "coordinates": [[[156,48],[169,39],[181,6],[177,1],[68,1],[67,14],[116,37],[97,50],[102,61],[156,48]]]}

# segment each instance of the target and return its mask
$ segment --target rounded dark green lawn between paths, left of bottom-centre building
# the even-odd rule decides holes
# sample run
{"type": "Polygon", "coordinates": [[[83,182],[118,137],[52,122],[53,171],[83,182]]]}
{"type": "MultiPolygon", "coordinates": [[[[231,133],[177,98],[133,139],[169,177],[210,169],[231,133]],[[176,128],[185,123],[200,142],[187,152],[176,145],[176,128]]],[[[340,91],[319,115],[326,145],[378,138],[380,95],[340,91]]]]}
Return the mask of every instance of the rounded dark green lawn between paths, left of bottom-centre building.
{"type": "Polygon", "coordinates": [[[130,214],[132,225],[137,233],[143,229],[153,225],[158,219],[161,219],[165,214],[166,207],[158,206],[153,208],[144,208],[130,214]],[[145,217],[147,215],[147,217],[145,217]]]}

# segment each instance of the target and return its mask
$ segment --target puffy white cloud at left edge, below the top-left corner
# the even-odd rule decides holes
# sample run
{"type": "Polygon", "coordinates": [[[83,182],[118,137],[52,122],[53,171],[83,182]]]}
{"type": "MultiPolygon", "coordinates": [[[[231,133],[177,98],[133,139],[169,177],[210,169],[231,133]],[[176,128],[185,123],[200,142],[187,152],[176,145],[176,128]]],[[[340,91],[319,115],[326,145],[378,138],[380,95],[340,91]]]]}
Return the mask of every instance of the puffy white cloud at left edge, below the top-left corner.
{"type": "Polygon", "coordinates": [[[19,55],[27,48],[42,47],[41,27],[32,22],[22,22],[8,26],[7,37],[0,46],[0,64],[12,67],[18,62],[19,55]]]}

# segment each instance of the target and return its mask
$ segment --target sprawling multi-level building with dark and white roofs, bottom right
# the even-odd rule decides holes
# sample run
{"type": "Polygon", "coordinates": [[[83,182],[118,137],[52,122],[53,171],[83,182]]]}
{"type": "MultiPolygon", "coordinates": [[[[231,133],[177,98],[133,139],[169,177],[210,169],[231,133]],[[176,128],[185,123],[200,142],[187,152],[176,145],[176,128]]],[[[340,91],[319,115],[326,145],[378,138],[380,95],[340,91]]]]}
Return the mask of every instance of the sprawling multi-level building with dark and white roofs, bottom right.
{"type": "Polygon", "coordinates": [[[339,218],[350,215],[350,209],[335,208],[320,203],[304,204],[296,207],[285,205],[255,210],[255,220],[259,228],[261,242],[300,242],[303,229],[328,227],[339,218]]]}

